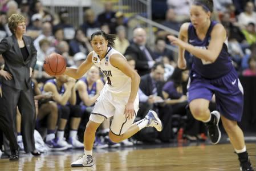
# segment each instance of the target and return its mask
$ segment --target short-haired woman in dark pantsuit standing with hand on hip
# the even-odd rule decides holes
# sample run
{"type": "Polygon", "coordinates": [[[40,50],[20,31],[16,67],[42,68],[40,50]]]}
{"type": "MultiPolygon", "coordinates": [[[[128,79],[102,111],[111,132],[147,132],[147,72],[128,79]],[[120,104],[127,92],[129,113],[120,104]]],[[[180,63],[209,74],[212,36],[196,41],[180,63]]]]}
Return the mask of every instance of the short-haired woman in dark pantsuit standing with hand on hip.
{"type": "Polygon", "coordinates": [[[40,153],[35,150],[34,128],[35,128],[35,104],[31,87],[32,68],[36,63],[36,50],[32,39],[25,36],[25,17],[13,14],[8,19],[8,26],[13,35],[3,39],[0,43],[0,54],[5,60],[5,68],[0,71],[2,83],[2,101],[0,108],[5,108],[0,113],[0,125],[6,125],[11,135],[7,136],[10,141],[10,160],[18,160],[18,145],[15,129],[16,108],[22,115],[22,135],[26,152],[34,156],[40,153]],[[11,127],[10,127],[11,125],[11,127]]]}

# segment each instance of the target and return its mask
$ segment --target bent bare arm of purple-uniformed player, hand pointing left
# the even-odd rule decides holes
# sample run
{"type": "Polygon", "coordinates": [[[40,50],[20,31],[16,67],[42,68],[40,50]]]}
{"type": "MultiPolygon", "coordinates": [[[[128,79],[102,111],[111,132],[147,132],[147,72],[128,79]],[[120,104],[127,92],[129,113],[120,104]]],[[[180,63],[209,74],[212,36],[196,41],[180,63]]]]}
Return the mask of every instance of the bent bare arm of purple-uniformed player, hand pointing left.
{"type": "Polygon", "coordinates": [[[217,24],[216,26],[214,26],[213,31],[211,33],[210,43],[207,49],[194,47],[191,44],[176,38],[175,36],[168,36],[168,39],[172,44],[181,46],[182,48],[189,51],[191,54],[193,54],[197,58],[204,59],[206,61],[213,63],[218,58],[218,55],[221,52],[223,43],[226,40],[226,31],[221,24],[217,24]]]}

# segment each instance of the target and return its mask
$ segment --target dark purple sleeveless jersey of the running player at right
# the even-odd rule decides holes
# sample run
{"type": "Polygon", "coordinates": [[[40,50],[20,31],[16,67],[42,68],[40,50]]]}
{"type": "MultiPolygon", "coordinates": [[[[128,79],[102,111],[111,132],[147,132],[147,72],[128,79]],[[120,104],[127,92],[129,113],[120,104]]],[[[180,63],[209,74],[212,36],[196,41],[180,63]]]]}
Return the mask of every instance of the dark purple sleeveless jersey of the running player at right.
{"type": "MultiPolygon", "coordinates": [[[[196,34],[196,29],[194,28],[192,23],[190,23],[188,28],[188,43],[201,49],[207,49],[211,38],[210,34],[213,30],[213,27],[216,24],[216,21],[211,21],[210,27],[208,28],[204,40],[200,40],[196,34]]],[[[221,76],[224,76],[227,73],[229,73],[233,68],[231,63],[231,56],[227,52],[227,39],[223,43],[221,52],[214,63],[211,63],[203,59],[199,59],[194,55],[192,56],[192,71],[196,72],[204,78],[220,78],[221,76]]]]}

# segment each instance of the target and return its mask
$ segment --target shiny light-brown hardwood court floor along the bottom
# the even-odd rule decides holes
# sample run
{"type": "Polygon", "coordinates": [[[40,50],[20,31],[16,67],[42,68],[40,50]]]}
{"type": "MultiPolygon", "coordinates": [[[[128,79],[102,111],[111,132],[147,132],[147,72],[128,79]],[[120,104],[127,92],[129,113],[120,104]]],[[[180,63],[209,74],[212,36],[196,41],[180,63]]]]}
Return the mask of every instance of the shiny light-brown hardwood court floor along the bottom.
{"type": "MultiPolygon", "coordinates": [[[[247,143],[251,162],[255,167],[255,143],[247,143]]],[[[0,170],[239,170],[237,155],[230,144],[179,146],[174,148],[116,150],[94,153],[94,168],[71,168],[70,164],[83,153],[82,150],[55,152],[32,157],[21,156],[19,161],[0,159],[0,170]]],[[[27,155],[27,156],[26,156],[27,155]]]]}

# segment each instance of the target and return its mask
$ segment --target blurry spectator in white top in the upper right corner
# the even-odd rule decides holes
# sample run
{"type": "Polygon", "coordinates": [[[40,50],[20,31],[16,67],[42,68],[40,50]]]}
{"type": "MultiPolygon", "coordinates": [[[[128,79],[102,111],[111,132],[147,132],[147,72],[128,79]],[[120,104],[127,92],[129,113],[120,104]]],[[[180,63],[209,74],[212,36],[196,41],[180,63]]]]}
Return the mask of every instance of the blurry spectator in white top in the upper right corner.
{"type": "Polygon", "coordinates": [[[254,12],[253,2],[247,2],[245,11],[238,15],[238,24],[241,28],[245,28],[249,23],[256,24],[256,13],[254,12]]]}

